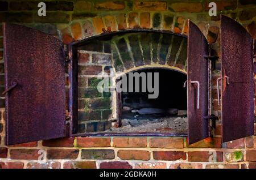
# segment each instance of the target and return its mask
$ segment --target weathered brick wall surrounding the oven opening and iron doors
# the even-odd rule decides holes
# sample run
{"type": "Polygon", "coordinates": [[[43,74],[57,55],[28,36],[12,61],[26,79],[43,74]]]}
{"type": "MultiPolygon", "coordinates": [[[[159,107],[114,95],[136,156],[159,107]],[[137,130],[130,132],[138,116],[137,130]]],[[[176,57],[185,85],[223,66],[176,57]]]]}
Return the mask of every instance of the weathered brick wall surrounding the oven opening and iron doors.
{"type": "MultiPolygon", "coordinates": [[[[29,0],[1,1],[0,22],[22,23],[61,38],[68,44],[104,32],[133,28],[152,28],[187,35],[187,19],[191,19],[207,37],[214,54],[220,55],[219,15],[225,14],[236,19],[256,38],[256,5],[253,1],[47,1],[46,17],[37,15],[37,5],[36,1],[29,0]],[[218,16],[208,16],[209,2],[217,3],[218,16]]],[[[2,28],[0,29],[2,59],[2,28]]],[[[96,120],[100,122],[108,122],[104,121],[105,113],[109,115],[111,111],[108,103],[97,101],[107,99],[109,102],[111,98],[94,91],[94,84],[97,82],[94,73],[107,71],[110,66],[108,60],[97,64],[96,59],[101,58],[101,55],[109,57],[111,54],[105,50],[100,52],[90,49],[80,52],[81,101],[86,99],[90,105],[102,103],[102,108],[95,106],[87,109],[86,113],[81,112],[85,121],[89,116],[97,117],[96,120]]],[[[220,60],[212,75],[212,108],[213,113],[220,117],[216,96],[219,65],[220,60]]],[[[1,60],[1,91],[4,84],[3,66],[1,60]]],[[[214,138],[192,145],[187,145],[185,138],[181,137],[86,137],[6,147],[4,97],[0,98],[0,107],[0,168],[256,168],[256,136],[221,144],[221,121],[217,123],[214,138]],[[209,162],[212,155],[216,155],[217,162],[209,162]]],[[[94,123],[94,120],[89,123],[94,123]]],[[[85,131],[82,124],[84,123],[81,123],[80,128],[85,131]]]]}

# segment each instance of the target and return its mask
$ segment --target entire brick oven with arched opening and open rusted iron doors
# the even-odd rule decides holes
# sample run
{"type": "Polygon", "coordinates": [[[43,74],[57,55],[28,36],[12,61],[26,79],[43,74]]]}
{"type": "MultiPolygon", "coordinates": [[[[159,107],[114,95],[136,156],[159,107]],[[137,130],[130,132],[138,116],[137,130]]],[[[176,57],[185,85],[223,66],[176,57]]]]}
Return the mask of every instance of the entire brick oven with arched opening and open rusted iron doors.
{"type": "Polygon", "coordinates": [[[255,168],[255,3],[5,2],[0,168],[255,168]]]}

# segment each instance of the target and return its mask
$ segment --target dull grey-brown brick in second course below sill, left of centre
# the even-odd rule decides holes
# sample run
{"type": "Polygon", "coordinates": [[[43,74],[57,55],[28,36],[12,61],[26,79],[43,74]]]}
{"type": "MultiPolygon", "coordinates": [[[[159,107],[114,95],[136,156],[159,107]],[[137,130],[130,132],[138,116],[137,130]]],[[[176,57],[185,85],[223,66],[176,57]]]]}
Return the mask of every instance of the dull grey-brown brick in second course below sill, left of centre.
{"type": "Polygon", "coordinates": [[[82,159],[88,160],[112,160],[115,158],[113,149],[82,149],[82,159]]]}

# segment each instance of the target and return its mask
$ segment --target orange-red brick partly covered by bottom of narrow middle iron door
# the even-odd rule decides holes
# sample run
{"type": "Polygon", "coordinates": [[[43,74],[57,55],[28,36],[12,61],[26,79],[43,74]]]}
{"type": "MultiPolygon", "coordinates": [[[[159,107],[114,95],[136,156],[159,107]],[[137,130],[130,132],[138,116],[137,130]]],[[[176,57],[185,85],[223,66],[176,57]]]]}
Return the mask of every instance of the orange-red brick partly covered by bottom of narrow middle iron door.
{"type": "Polygon", "coordinates": [[[221,148],[221,138],[205,138],[191,145],[187,144],[188,148],[221,148]]]}

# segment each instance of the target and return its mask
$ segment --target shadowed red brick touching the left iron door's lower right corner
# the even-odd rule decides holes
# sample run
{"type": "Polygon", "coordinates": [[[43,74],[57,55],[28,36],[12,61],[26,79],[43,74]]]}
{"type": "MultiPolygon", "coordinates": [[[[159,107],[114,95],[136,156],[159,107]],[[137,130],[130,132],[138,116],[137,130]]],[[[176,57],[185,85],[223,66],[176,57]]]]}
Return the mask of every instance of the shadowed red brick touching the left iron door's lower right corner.
{"type": "Polygon", "coordinates": [[[59,139],[50,139],[44,140],[43,146],[48,147],[74,147],[75,138],[59,138],[59,139]]]}

